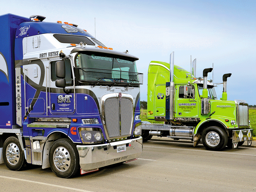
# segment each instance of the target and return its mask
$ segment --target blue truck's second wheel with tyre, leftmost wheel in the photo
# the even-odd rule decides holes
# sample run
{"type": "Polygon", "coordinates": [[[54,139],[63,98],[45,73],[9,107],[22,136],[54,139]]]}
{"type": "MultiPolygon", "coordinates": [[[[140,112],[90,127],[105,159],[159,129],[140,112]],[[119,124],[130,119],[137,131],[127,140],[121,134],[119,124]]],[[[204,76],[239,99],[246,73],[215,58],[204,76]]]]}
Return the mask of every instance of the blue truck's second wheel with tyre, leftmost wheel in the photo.
{"type": "Polygon", "coordinates": [[[19,171],[27,164],[20,141],[16,137],[9,137],[4,141],[3,158],[6,167],[12,171],[19,171]]]}

